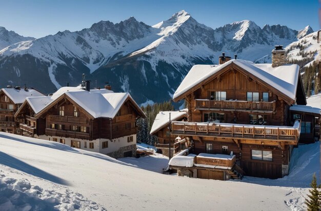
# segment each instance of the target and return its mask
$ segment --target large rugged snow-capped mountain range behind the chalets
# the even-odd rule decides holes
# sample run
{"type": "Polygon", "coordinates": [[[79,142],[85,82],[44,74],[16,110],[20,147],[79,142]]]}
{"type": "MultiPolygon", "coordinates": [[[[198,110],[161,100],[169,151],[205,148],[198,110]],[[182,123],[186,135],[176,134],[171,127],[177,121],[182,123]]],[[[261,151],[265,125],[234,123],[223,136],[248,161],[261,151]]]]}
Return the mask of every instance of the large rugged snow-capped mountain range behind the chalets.
{"type": "Polygon", "coordinates": [[[275,44],[288,45],[311,30],[298,35],[280,25],[261,29],[250,20],[214,30],[184,10],[154,26],[134,17],[118,24],[100,21],[81,31],[6,46],[0,50],[5,76],[0,85],[27,83],[48,93],[68,82],[77,85],[85,73],[93,86],[109,82],[115,91],[129,91],[138,103],[162,102],[171,98],[193,64],[217,63],[222,52],[255,61],[275,44]]]}

